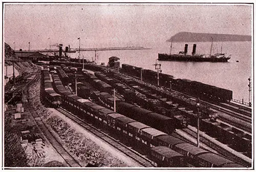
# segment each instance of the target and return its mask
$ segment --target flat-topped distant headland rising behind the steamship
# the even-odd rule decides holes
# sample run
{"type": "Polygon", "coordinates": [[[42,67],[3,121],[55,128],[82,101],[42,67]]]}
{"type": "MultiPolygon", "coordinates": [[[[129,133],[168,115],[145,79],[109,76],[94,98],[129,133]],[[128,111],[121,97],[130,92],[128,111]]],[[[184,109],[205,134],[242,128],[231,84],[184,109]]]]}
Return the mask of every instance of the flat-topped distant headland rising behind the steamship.
{"type": "Polygon", "coordinates": [[[250,35],[215,34],[215,33],[193,33],[179,32],[170,37],[168,42],[210,42],[214,41],[251,41],[250,35]]]}

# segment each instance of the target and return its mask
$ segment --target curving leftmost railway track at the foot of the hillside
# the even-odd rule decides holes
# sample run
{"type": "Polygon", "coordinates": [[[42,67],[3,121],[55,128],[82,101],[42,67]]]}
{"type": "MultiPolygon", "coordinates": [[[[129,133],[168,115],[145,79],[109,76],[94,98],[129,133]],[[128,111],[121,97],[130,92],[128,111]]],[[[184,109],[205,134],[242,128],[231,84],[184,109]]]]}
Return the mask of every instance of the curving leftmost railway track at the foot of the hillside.
{"type": "MultiPolygon", "coordinates": [[[[28,91],[28,87],[30,87],[30,85],[38,79],[40,79],[40,70],[38,70],[36,72],[35,77],[28,84],[26,84],[27,87],[24,87],[24,90],[28,91]]],[[[26,101],[23,102],[23,104],[25,110],[31,114],[37,126],[45,134],[46,138],[56,149],[56,152],[66,161],[66,163],[71,167],[81,167],[81,165],[67,152],[67,150],[61,145],[61,143],[52,135],[46,124],[41,120],[40,116],[34,110],[32,104],[26,101]]]]}

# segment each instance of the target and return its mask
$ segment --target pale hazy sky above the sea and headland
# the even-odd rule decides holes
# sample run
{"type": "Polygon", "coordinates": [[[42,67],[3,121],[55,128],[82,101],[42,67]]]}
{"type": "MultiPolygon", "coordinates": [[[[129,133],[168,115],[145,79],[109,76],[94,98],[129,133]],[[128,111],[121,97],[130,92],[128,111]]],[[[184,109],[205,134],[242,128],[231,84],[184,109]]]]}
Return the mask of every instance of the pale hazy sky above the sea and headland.
{"type": "Polygon", "coordinates": [[[178,32],[251,35],[251,20],[248,4],[5,4],[4,41],[16,50],[78,48],[78,37],[81,48],[150,47],[178,32]]]}

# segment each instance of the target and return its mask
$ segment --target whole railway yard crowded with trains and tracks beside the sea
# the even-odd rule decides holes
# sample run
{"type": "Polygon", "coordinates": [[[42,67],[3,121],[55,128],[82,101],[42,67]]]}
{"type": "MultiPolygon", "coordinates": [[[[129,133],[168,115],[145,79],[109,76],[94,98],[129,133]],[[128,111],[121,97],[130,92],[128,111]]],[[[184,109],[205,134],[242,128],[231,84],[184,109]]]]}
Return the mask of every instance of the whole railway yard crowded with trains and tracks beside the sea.
{"type": "Polygon", "coordinates": [[[28,166],[252,167],[252,110],[231,103],[230,90],[166,74],[157,86],[156,72],[142,79],[125,64],[26,65],[6,85],[5,117],[20,127],[28,166]]]}

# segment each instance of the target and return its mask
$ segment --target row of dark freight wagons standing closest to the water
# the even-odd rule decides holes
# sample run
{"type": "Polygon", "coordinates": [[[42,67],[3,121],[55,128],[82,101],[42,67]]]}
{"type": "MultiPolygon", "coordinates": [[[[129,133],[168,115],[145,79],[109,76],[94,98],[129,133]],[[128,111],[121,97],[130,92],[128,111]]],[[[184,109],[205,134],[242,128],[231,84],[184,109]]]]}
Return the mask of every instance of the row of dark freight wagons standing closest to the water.
{"type": "MultiPolygon", "coordinates": [[[[127,64],[122,65],[122,72],[135,77],[140,77],[142,71],[144,81],[154,84],[157,83],[157,72],[145,69],[142,70],[142,68],[127,64]]],[[[232,99],[232,91],[214,87],[205,83],[187,79],[177,79],[172,75],[162,73],[159,74],[159,80],[159,84],[163,87],[170,88],[170,85],[172,85],[172,89],[187,93],[200,99],[218,102],[226,102],[232,99]]]]}

